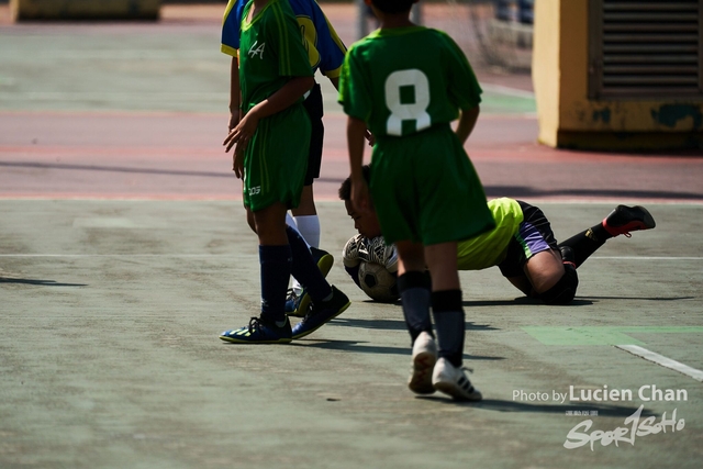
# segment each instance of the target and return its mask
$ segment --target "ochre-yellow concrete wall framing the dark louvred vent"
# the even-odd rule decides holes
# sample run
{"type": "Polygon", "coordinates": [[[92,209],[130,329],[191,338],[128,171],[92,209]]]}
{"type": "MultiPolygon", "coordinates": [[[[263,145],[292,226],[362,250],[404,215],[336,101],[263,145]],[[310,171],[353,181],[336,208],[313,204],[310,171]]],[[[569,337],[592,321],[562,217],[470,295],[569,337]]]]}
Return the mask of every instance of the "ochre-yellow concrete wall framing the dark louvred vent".
{"type": "Polygon", "coordinates": [[[703,148],[703,97],[590,100],[588,0],[535,2],[539,142],[593,149],[703,148]]]}

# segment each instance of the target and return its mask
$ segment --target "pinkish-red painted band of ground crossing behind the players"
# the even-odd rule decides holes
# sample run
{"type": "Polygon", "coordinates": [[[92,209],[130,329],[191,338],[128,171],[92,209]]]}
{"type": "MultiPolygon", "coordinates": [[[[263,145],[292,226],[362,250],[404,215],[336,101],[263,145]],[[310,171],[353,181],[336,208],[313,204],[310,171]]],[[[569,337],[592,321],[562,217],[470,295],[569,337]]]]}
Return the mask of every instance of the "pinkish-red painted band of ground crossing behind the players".
{"type": "MultiPolygon", "coordinates": [[[[348,36],[346,5],[325,10],[348,36]]],[[[220,21],[222,5],[168,7],[166,24],[220,21]]],[[[5,22],[7,5],[0,8],[5,22]]],[[[130,27],[129,24],[125,27],[130,27]]],[[[482,82],[529,90],[525,75],[478,70],[482,82]]],[[[347,175],[345,119],[327,131],[319,199],[347,175]]],[[[0,109],[1,198],[236,199],[239,182],[220,146],[224,114],[8,112],[0,109]]],[[[703,203],[703,158],[555,150],[536,144],[534,118],[483,115],[467,149],[489,197],[703,203]]]]}

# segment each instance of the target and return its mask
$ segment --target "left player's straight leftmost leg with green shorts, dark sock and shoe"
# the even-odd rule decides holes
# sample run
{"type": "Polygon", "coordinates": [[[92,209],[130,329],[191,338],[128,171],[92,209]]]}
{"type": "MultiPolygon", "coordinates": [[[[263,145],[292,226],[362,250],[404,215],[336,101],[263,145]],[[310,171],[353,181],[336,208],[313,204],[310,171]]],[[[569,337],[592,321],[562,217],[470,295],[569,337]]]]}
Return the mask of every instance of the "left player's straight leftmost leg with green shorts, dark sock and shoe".
{"type": "Polygon", "coordinates": [[[284,311],[292,269],[286,212],[298,204],[305,175],[310,124],[300,105],[258,122],[244,158],[244,204],[259,238],[261,311],[248,327],[224,332],[235,343],[287,343],[291,327],[284,311]],[[266,171],[261,168],[267,168],[266,171]]]}

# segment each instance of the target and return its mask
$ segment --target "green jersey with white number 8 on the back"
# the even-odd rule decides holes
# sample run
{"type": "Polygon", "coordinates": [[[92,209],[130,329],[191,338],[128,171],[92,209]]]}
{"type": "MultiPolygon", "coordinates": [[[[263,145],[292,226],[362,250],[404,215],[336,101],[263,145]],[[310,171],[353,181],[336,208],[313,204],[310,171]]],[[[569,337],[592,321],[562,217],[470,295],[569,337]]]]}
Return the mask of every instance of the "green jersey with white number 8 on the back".
{"type": "Polygon", "coordinates": [[[423,26],[378,30],[355,43],[339,79],[344,112],[377,138],[449,123],[480,101],[461,49],[446,33],[423,26]]]}

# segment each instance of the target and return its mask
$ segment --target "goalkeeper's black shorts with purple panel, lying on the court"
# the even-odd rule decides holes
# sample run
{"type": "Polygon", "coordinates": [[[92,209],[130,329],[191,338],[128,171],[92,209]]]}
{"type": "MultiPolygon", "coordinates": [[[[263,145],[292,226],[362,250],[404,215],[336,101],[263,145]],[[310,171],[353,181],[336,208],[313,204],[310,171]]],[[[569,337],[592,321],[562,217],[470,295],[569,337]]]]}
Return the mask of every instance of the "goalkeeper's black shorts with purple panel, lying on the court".
{"type": "Polygon", "coordinates": [[[523,210],[523,222],[507,245],[505,259],[498,267],[503,277],[523,277],[525,263],[537,253],[558,249],[551,225],[545,214],[536,206],[518,200],[523,210]]]}

